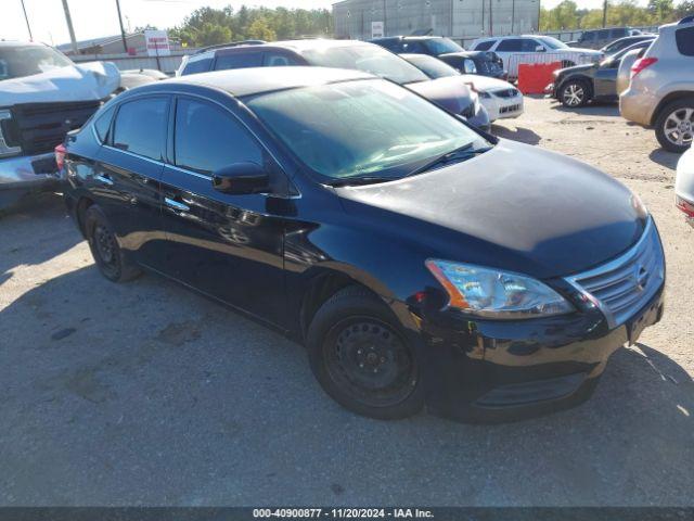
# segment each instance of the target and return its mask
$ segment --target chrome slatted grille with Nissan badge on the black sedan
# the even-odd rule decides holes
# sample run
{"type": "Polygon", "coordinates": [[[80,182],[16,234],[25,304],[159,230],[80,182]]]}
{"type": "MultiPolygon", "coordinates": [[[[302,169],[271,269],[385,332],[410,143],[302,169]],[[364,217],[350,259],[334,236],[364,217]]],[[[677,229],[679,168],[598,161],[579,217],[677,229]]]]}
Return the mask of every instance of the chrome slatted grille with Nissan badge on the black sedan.
{"type": "Polygon", "coordinates": [[[605,314],[612,328],[622,325],[658,292],[665,280],[660,238],[648,219],[635,246],[626,254],[567,280],[605,314]]]}

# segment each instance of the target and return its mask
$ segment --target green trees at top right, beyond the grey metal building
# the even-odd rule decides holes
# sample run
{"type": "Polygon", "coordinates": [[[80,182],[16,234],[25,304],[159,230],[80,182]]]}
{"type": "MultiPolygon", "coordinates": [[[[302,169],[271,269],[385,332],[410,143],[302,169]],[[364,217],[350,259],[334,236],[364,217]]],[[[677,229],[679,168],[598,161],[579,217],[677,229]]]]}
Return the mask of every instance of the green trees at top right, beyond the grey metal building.
{"type": "MultiPolygon", "coordinates": [[[[611,1],[607,5],[607,27],[656,26],[694,14],[694,0],[650,0],[640,5],[637,0],[611,1]]],[[[540,10],[540,31],[594,29],[603,26],[602,9],[579,9],[574,0],[564,0],[554,9],[540,10]]]]}

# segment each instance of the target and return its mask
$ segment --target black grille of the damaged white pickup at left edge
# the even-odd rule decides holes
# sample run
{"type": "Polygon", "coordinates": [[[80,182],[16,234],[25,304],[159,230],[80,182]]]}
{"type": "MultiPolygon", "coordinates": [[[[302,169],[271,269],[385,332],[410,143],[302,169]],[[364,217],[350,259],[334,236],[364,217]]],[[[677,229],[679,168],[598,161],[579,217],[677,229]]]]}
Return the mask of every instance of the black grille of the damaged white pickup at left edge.
{"type": "Polygon", "coordinates": [[[100,106],[100,100],[15,105],[12,119],[3,125],[5,139],[10,145],[22,147],[27,155],[52,152],[68,131],[80,128],[100,106]]]}

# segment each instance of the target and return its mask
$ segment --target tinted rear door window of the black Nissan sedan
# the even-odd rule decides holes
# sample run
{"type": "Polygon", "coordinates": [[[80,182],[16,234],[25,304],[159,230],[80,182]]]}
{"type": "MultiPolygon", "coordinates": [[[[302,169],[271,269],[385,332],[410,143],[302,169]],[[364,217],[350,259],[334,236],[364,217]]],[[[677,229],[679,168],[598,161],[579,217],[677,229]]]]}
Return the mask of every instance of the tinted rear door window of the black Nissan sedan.
{"type": "Polygon", "coordinates": [[[143,98],[120,105],[113,130],[114,147],[160,161],[166,143],[168,100],[143,98]]]}

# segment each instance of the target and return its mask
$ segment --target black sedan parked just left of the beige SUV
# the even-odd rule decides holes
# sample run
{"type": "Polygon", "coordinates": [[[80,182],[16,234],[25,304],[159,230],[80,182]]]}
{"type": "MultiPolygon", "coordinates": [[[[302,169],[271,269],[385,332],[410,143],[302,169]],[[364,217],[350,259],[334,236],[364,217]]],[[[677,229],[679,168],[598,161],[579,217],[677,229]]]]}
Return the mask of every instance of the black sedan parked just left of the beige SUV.
{"type": "Polygon", "coordinates": [[[619,101],[617,76],[622,58],[632,50],[647,49],[652,42],[653,39],[633,43],[600,63],[555,71],[552,97],[569,109],[583,106],[590,101],[619,101]]]}

